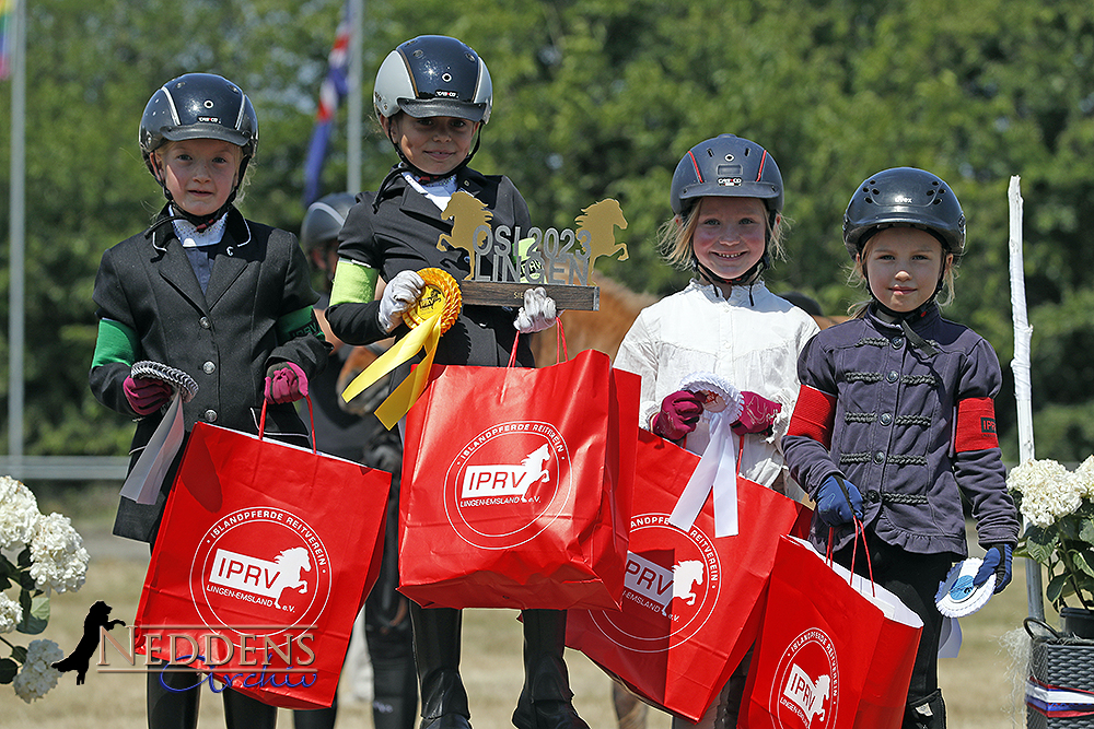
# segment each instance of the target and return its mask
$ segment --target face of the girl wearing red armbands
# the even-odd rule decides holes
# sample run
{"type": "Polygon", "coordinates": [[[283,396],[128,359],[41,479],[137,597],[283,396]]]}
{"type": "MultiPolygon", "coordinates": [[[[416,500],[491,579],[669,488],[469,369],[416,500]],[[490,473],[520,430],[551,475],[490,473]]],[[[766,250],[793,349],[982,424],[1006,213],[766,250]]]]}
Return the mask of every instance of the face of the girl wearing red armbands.
{"type": "Polygon", "coordinates": [[[916,227],[878,231],[859,254],[870,292],[894,311],[911,311],[934,295],[953,259],[938,238],[916,227]]]}

